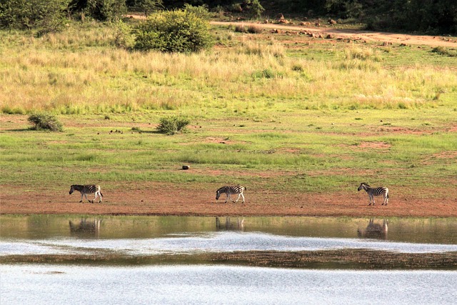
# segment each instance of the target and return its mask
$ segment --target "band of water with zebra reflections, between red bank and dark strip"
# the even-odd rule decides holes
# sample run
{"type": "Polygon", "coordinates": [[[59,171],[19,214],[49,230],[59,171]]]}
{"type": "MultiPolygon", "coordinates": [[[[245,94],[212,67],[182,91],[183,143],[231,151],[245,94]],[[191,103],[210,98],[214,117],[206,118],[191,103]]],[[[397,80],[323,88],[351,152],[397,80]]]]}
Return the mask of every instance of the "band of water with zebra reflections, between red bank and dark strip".
{"type": "Polygon", "coordinates": [[[1,255],[457,251],[456,219],[1,216],[1,255]]]}

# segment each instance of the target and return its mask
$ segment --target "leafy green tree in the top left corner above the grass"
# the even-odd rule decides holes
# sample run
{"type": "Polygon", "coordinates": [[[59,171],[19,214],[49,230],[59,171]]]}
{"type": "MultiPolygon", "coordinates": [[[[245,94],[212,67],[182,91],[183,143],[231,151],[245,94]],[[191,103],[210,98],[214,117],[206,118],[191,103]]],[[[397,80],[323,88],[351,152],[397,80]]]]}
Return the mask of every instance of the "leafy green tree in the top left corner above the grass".
{"type": "Polygon", "coordinates": [[[66,23],[70,0],[1,0],[0,26],[9,29],[57,31],[66,23]]]}

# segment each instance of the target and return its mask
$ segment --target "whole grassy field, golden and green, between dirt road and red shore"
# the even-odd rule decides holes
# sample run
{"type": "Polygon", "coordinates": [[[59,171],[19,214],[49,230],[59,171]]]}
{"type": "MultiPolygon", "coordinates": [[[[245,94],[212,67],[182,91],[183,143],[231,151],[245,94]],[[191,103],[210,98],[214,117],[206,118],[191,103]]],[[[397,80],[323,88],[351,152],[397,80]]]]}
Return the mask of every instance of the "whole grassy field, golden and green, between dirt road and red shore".
{"type": "Polygon", "coordinates": [[[214,32],[211,51],[159,54],[116,47],[114,26],[1,31],[2,192],[144,181],[291,193],[366,181],[431,199],[456,189],[455,57],[214,32]],[[34,111],[56,114],[64,131],[29,130],[34,111]],[[189,131],[158,134],[169,115],[190,119],[189,131]]]}

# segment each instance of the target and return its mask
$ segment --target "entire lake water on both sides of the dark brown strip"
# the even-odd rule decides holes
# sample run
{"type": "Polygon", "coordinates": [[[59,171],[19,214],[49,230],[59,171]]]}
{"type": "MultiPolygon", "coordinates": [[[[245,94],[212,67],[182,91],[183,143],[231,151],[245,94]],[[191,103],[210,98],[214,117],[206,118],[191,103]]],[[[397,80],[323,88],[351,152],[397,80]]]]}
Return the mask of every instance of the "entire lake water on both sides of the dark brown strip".
{"type": "MultiPolygon", "coordinates": [[[[156,264],[131,258],[233,251],[457,252],[457,219],[0,216],[2,257],[129,263],[0,264],[1,304],[455,304],[457,271],[156,264]]],[[[337,265],[336,265],[337,266],[337,265]]]]}

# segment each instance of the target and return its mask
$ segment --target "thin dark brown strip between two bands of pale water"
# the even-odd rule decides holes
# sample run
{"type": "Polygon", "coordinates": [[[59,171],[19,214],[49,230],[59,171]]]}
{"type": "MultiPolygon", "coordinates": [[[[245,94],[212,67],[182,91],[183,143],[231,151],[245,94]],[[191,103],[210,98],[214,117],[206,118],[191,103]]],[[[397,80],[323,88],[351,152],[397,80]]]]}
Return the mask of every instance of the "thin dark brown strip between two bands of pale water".
{"type": "Polygon", "coordinates": [[[387,251],[341,249],[331,251],[239,251],[195,255],[119,256],[33,255],[2,256],[0,264],[226,264],[301,269],[437,269],[457,270],[457,252],[405,254],[387,251]]]}

